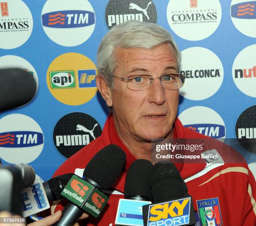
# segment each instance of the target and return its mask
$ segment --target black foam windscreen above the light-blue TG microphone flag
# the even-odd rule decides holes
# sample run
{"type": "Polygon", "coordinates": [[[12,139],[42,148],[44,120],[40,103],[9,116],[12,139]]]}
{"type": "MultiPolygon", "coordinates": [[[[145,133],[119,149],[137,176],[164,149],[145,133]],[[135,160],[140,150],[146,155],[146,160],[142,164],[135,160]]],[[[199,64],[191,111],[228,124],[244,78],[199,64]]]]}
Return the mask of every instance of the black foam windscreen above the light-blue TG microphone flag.
{"type": "Polygon", "coordinates": [[[153,170],[153,164],[145,159],[135,160],[127,173],[125,180],[124,195],[125,198],[131,196],[142,196],[152,201],[150,189],[150,177],[153,170]]]}

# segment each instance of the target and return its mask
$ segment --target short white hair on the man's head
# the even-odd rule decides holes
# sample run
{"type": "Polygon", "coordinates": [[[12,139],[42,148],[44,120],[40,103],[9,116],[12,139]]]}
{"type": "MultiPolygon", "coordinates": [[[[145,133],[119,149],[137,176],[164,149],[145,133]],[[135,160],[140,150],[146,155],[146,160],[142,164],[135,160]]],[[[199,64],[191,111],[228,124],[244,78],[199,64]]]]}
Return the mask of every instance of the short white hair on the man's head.
{"type": "Polygon", "coordinates": [[[114,88],[113,71],[117,66],[116,48],[150,49],[164,43],[174,48],[177,70],[180,71],[181,54],[172,35],[154,23],[128,20],[111,28],[102,38],[97,51],[98,73],[104,78],[110,89],[114,88]]]}

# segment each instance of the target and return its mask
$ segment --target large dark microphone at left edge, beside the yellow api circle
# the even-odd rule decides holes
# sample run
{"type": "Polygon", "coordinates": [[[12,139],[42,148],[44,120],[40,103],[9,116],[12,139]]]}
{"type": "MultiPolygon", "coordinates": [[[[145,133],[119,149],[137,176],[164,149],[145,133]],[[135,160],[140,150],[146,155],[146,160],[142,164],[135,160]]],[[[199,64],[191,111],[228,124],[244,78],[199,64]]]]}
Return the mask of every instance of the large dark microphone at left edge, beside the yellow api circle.
{"type": "Polygon", "coordinates": [[[36,94],[36,81],[22,69],[0,69],[0,112],[23,106],[36,94]]]}

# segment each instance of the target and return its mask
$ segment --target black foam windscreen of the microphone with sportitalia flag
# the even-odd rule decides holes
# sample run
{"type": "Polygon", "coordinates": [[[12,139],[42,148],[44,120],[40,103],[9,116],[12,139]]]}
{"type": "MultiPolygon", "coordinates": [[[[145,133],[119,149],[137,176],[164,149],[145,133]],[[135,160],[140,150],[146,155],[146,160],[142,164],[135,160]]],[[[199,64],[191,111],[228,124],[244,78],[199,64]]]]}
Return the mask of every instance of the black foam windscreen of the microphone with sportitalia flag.
{"type": "Polygon", "coordinates": [[[116,145],[108,145],[96,153],[84,169],[84,176],[108,189],[121,173],[126,155],[116,145]]]}

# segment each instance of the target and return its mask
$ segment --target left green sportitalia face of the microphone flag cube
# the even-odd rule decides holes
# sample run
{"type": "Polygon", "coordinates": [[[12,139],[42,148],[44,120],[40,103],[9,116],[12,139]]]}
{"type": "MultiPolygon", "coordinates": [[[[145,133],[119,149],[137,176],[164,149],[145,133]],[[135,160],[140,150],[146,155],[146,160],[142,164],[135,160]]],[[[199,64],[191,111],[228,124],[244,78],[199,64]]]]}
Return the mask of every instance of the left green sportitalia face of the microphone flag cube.
{"type": "Polygon", "coordinates": [[[74,175],[62,190],[61,195],[70,202],[82,207],[84,200],[87,199],[93,188],[90,183],[74,175]]]}

